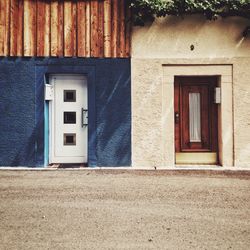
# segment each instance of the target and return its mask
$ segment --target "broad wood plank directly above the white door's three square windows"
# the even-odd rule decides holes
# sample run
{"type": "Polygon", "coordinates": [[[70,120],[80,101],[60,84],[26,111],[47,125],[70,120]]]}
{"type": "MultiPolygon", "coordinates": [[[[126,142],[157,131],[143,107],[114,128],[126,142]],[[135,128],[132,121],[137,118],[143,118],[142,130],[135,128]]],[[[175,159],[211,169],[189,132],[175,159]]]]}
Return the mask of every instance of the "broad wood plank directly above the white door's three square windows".
{"type": "Polygon", "coordinates": [[[76,55],[76,3],[64,2],[64,56],[76,55]]]}

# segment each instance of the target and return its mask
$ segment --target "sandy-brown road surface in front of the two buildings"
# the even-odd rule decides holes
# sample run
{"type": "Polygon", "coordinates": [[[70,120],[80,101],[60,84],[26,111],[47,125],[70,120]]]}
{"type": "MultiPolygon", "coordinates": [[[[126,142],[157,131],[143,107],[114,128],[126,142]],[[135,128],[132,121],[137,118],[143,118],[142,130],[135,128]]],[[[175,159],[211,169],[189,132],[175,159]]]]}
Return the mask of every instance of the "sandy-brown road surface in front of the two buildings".
{"type": "Polygon", "coordinates": [[[250,249],[250,174],[0,171],[0,249],[250,249]]]}

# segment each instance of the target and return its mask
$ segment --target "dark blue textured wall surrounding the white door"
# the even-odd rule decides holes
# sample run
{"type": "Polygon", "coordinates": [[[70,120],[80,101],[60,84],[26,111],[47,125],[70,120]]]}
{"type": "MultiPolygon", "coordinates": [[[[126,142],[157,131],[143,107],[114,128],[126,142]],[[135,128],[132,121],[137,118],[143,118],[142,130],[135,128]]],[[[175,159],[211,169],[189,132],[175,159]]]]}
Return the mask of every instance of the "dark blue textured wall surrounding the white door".
{"type": "Polygon", "coordinates": [[[131,165],[129,59],[0,59],[0,166],[43,166],[44,76],[88,77],[89,166],[131,165]]]}

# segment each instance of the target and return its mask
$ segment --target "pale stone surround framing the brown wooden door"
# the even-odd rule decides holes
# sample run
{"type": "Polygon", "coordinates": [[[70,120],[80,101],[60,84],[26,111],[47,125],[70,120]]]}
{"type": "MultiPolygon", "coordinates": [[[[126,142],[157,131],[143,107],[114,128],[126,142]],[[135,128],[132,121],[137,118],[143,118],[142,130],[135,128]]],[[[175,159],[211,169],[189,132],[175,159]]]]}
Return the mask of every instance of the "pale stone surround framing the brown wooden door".
{"type": "Polygon", "coordinates": [[[163,165],[175,165],[174,77],[217,76],[221,87],[221,104],[218,107],[219,164],[233,166],[233,66],[231,64],[162,64],[162,69],[163,165]]]}

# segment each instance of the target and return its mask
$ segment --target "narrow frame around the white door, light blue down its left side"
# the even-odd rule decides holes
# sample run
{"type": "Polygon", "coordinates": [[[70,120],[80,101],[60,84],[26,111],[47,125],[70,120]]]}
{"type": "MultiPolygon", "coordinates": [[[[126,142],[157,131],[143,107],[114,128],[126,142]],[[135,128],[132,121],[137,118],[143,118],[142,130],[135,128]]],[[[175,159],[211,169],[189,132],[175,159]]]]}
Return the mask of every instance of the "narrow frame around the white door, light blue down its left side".
{"type": "MultiPolygon", "coordinates": [[[[49,101],[49,164],[53,164],[53,163],[56,163],[54,161],[54,158],[55,157],[55,153],[54,153],[54,149],[55,149],[55,138],[53,138],[53,136],[55,136],[55,101],[54,101],[54,97],[55,97],[55,90],[54,90],[54,85],[56,83],[53,84],[52,82],[52,77],[53,76],[58,76],[58,77],[64,77],[64,76],[69,76],[71,79],[76,79],[76,80],[82,80],[83,78],[86,79],[86,76],[82,75],[82,74],[50,74],[49,75],[49,85],[52,85],[52,92],[53,92],[53,99],[51,101],[49,101]]],[[[87,95],[88,95],[88,80],[86,79],[87,81],[87,95]]],[[[87,97],[87,100],[88,100],[88,97],[87,97]]],[[[87,103],[88,105],[88,103],[87,103]]],[[[88,107],[87,107],[88,109],[88,107]]],[[[89,127],[89,126],[88,126],[89,127]]],[[[87,129],[88,129],[87,127],[87,129]]],[[[88,134],[88,132],[87,132],[88,134]]],[[[86,138],[87,140],[87,155],[86,155],[86,159],[87,159],[87,162],[88,162],[88,136],[86,138]]],[[[60,158],[60,157],[57,157],[57,158],[60,158]]],[[[87,162],[82,162],[82,163],[87,163],[87,162]]],[[[72,163],[74,164],[74,162],[68,162],[68,163],[72,163]]],[[[63,164],[63,162],[62,162],[63,164]]]]}

